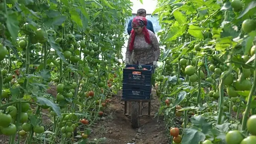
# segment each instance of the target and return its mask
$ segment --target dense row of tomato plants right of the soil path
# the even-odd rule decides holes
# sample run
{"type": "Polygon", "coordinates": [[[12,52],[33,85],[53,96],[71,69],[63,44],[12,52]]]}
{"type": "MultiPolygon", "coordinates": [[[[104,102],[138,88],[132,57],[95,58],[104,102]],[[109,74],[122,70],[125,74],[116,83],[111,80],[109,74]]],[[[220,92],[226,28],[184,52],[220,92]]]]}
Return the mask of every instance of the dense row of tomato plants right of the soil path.
{"type": "Polygon", "coordinates": [[[182,144],[245,144],[253,139],[254,8],[255,1],[244,0],[158,0],[152,14],[158,13],[163,28],[158,32],[162,65],[155,71],[158,114],[164,115],[168,130],[182,132],[182,144]]]}

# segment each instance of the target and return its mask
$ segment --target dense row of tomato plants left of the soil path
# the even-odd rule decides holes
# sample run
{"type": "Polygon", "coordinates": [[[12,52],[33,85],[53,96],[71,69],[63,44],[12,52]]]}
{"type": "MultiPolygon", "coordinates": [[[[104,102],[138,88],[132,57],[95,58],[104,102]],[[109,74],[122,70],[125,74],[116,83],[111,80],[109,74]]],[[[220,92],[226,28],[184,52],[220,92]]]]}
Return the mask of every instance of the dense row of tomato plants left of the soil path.
{"type": "Polygon", "coordinates": [[[85,143],[85,136],[73,137],[103,115],[106,99],[121,87],[132,3],[3,0],[0,6],[1,134],[9,144],[85,143]],[[53,123],[46,125],[42,113],[53,123]]]}

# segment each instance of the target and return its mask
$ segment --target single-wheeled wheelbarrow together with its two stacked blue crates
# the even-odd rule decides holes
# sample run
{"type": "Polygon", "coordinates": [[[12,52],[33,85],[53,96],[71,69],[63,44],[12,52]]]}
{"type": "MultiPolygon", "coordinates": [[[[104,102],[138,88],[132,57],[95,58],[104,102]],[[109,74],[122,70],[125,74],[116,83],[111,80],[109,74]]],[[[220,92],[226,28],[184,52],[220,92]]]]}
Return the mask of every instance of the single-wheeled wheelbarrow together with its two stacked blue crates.
{"type": "Polygon", "coordinates": [[[151,65],[126,65],[123,69],[121,101],[124,101],[124,114],[131,118],[133,128],[139,127],[140,117],[150,116],[153,73],[154,67],[151,65]],[[143,102],[148,102],[148,114],[142,114],[143,102]]]}

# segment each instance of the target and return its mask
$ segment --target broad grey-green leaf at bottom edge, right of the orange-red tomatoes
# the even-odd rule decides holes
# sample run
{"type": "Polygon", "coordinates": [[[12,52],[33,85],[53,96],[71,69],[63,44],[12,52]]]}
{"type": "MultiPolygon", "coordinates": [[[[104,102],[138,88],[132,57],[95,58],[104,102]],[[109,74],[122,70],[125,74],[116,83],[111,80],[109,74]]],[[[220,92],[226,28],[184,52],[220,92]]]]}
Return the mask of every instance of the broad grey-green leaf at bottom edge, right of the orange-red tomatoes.
{"type": "Polygon", "coordinates": [[[199,144],[205,140],[205,134],[193,128],[185,128],[182,144],[199,144]]]}

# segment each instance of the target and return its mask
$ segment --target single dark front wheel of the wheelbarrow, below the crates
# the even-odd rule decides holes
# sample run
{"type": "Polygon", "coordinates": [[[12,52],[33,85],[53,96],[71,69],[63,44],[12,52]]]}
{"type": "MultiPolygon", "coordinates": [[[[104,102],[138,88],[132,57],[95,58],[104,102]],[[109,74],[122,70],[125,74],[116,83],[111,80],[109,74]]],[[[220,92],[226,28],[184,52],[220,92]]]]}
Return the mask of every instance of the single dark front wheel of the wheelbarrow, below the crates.
{"type": "Polygon", "coordinates": [[[133,101],[132,102],[132,112],[131,112],[131,121],[132,121],[132,128],[139,127],[139,103],[133,101]]]}

